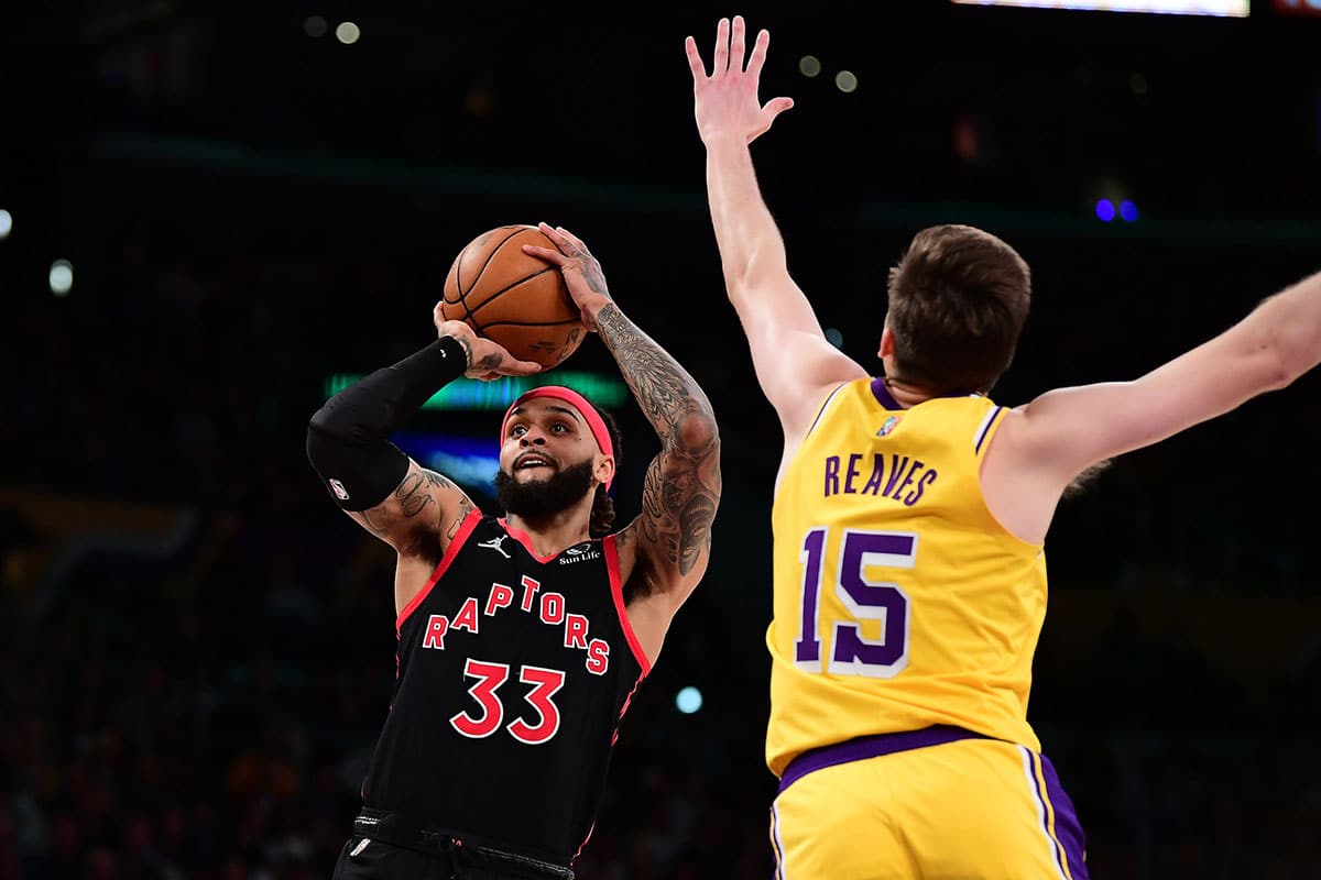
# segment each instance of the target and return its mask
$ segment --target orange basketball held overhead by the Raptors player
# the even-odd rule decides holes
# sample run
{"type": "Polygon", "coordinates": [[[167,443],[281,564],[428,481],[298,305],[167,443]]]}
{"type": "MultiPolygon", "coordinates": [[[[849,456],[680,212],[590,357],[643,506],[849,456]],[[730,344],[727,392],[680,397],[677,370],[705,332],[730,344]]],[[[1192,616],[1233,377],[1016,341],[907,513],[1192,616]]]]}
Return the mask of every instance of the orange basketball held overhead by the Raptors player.
{"type": "Polygon", "coordinates": [[[555,249],[535,226],[502,226],[469,241],[449,267],[440,313],[548,368],[572,355],[587,331],[564,276],[523,253],[524,244],[555,249]]]}

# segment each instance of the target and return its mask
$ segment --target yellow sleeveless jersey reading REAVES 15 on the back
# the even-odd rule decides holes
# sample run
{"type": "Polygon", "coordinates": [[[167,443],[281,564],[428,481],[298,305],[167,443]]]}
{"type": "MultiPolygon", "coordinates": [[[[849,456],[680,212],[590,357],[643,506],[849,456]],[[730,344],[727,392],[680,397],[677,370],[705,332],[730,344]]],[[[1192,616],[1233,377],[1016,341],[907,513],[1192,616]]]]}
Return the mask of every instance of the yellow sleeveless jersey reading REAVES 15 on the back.
{"type": "Polygon", "coordinates": [[[1045,557],[978,478],[1004,412],[980,396],[902,409],[867,379],[826,401],[771,511],[777,776],[807,749],[931,724],[1041,749],[1026,712],[1045,557]]]}

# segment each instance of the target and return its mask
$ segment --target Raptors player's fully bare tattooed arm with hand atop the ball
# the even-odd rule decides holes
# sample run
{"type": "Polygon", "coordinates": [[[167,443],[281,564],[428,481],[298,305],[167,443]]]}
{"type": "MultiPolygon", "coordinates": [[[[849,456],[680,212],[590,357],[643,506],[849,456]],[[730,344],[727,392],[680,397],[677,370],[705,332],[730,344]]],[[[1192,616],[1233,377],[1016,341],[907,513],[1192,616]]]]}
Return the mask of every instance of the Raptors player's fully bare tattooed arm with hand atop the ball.
{"type": "Polygon", "coordinates": [[[633,397],[660,437],[660,454],[647,468],[642,488],[642,513],[618,533],[617,542],[627,573],[630,615],[646,603],[668,625],[711,558],[711,522],[720,501],[716,417],[692,376],[620,311],[601,264],[587,245],[563,228],[544,223],[540,228],[559,252],[534,245],[524,245],[524,251],[564,273],[584,325],[614,355],[633,397]]]}

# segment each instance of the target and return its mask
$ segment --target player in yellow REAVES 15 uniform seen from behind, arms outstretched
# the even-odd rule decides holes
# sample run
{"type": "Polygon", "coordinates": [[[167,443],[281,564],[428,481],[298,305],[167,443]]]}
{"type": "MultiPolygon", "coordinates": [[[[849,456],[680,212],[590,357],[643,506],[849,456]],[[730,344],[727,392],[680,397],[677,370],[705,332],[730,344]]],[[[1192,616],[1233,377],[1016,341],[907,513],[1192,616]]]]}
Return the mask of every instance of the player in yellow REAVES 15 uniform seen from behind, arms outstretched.
{"type": "MultiPolygon", "coordinates": [[[[729,298],[779,414],[770,769],[783,880],[1083,880],[1082,829],[1026,722],[1061,493],[1321,361],[1321,274],[1135,381],[1007,409],[987,392],[1028,314],[1026,264],[964,226],[917,234],[889,281],[873,379],[826,340],[786,269],[748,145],[793,102],[757,96],[741,18],[696,120],[729,298]]],[[[878,315],[880,317],[880,315],[878,315]]]]}

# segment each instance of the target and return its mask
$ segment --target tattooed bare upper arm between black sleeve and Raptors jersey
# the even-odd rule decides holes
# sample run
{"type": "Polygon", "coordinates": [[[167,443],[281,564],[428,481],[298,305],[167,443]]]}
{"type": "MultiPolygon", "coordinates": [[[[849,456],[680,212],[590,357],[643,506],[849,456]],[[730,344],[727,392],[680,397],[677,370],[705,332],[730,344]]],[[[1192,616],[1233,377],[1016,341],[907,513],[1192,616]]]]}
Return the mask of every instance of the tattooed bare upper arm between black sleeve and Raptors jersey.
{"type": "Polygon", "coordinates": [[[408,459],[408,472],[384,501],[349,516],[400,555],[439,559],[474,509],[453,480],[408,459]]]}

